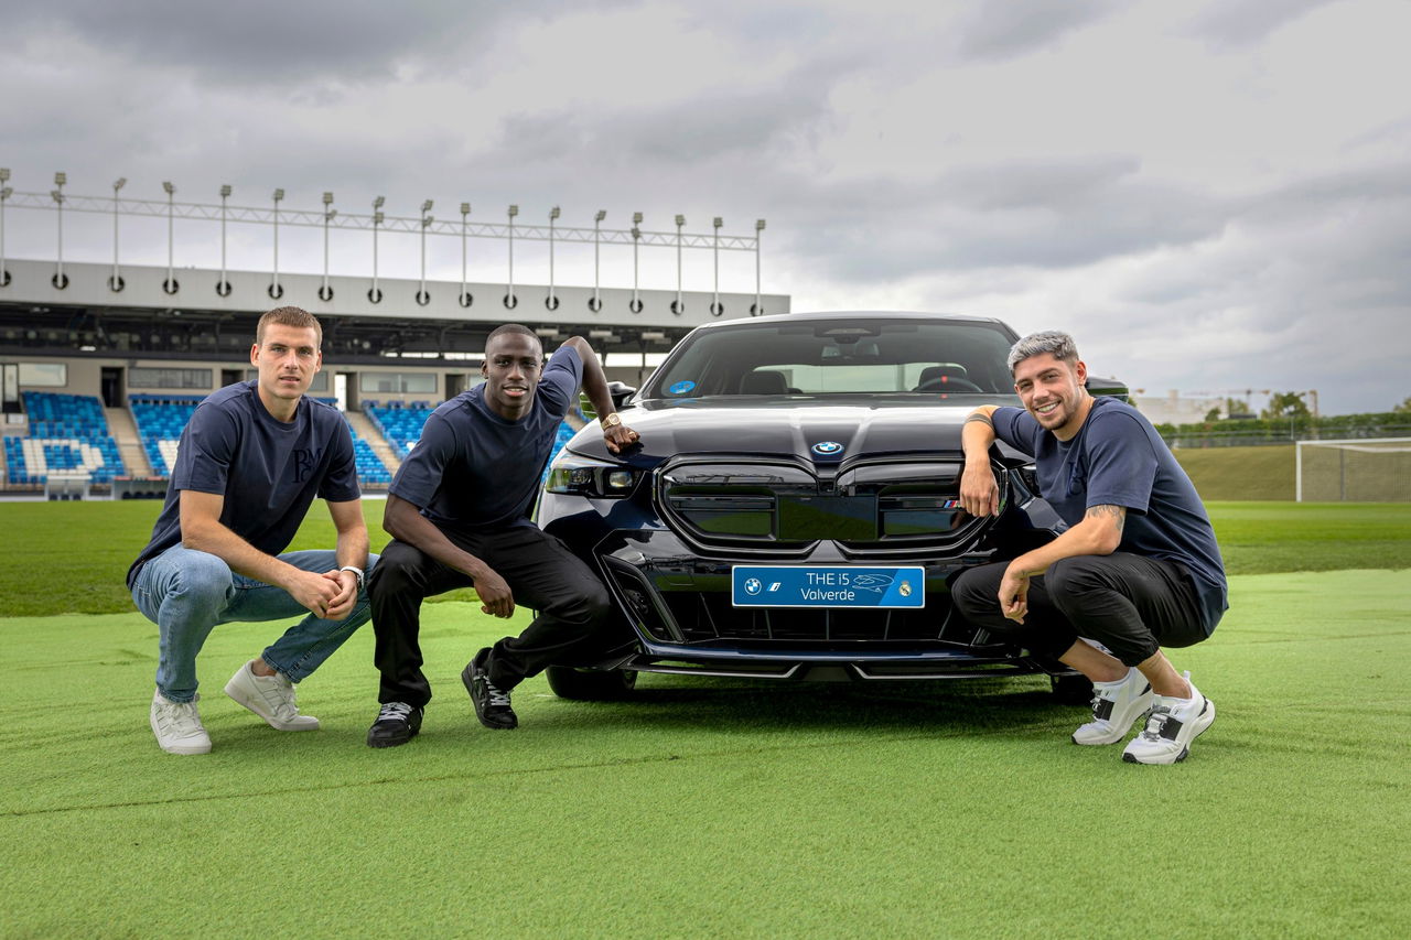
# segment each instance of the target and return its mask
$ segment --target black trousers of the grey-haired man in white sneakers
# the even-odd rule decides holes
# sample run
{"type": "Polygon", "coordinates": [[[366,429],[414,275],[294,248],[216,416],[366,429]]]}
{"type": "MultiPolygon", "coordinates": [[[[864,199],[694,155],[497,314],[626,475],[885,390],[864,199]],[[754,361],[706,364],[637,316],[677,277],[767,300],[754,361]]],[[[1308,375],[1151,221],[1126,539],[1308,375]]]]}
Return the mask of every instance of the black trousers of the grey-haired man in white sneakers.
{"type": "Polygon", "coordinates": [[[1041,656],[1057,659],[1078,637],[1086,637],[1134,666],[1161,646],[1191,646],[1209,635],[1195,582],[1177,562],[1129,552],[1060,559],[1030,579],[1023,624],[999,610],[1006,567],[983,565],[965,572],[951,584],[951,598],[976,627],[1041,656]]]}

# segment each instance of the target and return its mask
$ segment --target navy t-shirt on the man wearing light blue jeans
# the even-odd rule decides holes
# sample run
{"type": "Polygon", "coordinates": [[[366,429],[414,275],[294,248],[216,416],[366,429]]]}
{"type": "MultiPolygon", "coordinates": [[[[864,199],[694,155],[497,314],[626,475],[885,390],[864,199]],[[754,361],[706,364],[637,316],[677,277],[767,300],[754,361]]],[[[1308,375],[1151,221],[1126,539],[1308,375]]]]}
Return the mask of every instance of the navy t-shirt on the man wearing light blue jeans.
{"type": "Polygon", "coordinates": [[[181,433],[166,504],[152,541],[127,572],[128,589],[148,559],[181,542],[182,490],[226,497],[220,522],[265,555],[278,555],[315,495],[358,498],[353,436],[337,408],[306,395],[293,421],[278,421],[260,401],[258,381],[207,395],[181,433]]]}

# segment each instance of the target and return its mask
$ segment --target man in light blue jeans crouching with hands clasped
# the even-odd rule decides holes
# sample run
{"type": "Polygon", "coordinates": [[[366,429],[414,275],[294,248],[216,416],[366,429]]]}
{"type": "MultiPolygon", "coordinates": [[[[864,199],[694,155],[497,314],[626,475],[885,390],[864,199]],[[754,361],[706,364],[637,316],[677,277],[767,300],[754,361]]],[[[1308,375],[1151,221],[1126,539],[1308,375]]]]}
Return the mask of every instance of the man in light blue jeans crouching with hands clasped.
{"type": "Polygon", "coordinates": [[[182,430],[152,538],[127,573],[133,601],[159,627],[151,725],[169,754],[206,754],[196,653],[216,624],[306,614],[244,663],[226,694],[281,731],[312,731],[293,685],[367,622],[367,525],[343,415],[306,398],[323,364],[319,322],[296,306],[260,318],[255,381],[209,395],[182,430]],[[289,552],[315,497],[337,529],[332,552],[289,552]]]}

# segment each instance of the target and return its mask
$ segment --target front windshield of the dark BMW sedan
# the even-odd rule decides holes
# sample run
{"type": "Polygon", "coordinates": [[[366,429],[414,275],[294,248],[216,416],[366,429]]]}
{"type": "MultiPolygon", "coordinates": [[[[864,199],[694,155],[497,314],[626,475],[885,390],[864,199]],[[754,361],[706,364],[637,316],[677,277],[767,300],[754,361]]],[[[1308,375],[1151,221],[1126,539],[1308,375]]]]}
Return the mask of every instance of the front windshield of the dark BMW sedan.
{"type": "Polygon", "coordinates": [[[1013,342],[992,322],[744,322],[690,335],[645,395],[1009,395],[1013,380],[1005,357],[1013,342]]]}

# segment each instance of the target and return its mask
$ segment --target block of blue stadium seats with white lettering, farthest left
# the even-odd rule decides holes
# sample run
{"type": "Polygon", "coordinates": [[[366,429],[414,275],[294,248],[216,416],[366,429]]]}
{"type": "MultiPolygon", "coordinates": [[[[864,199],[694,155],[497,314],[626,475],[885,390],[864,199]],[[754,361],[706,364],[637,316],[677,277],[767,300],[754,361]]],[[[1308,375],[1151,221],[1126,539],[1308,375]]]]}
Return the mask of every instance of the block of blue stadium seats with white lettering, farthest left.
{"type": "Polygon", "coordinates": [[[6,438],[10,483],[45,483],[51,470],[82,470],[93,483],[111,483],[113,477],[126,474],[97,398],[25,391],[23,399],[30,433],[6,438]]]}

